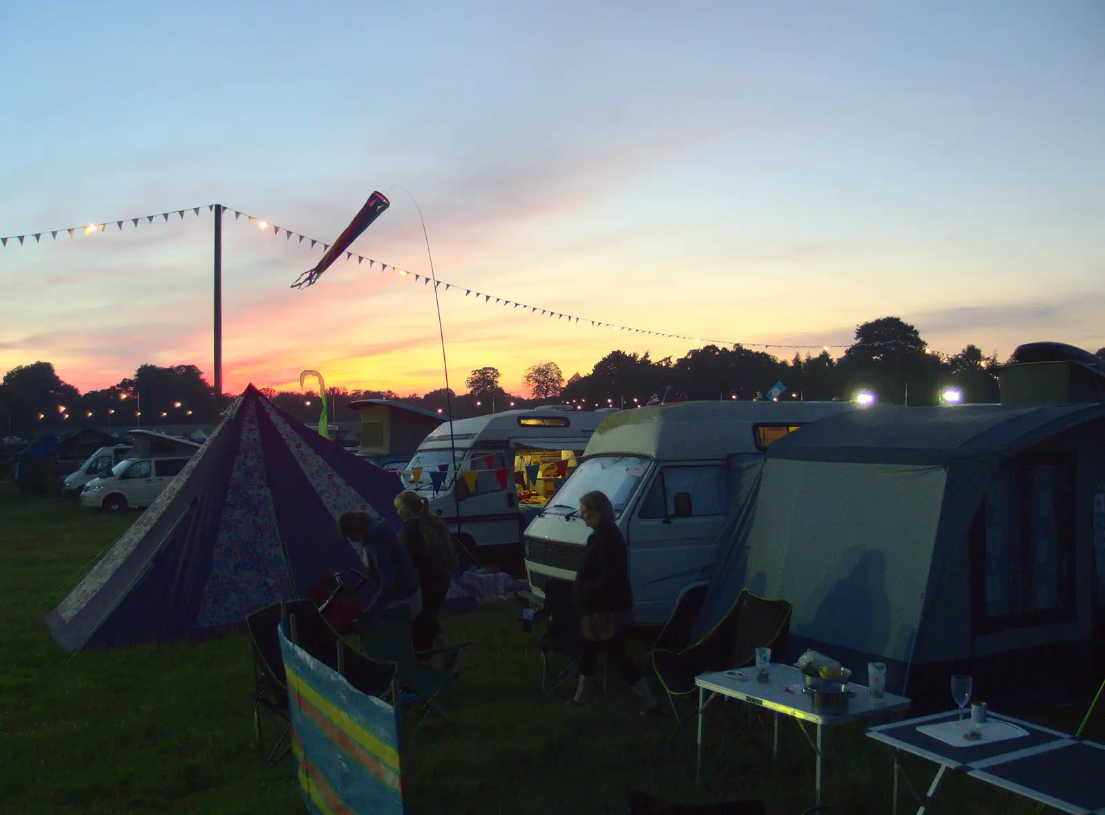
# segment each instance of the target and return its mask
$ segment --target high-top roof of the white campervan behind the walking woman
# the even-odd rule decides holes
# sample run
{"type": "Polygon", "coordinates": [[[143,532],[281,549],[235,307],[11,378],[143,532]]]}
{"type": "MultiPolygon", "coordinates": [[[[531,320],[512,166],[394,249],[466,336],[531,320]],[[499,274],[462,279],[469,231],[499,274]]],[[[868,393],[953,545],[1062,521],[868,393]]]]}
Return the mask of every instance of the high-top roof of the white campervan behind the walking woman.
{"type": "MultiPolygon", "coordinates": [[[[643,455],[665,461],[756,451],[757,424],[802,424],[854,411],[851,402],[677,402],[608,416],[587,455],[643,455]]],[[[772,445],[774,446],[774,445],[772,445]]]]}

